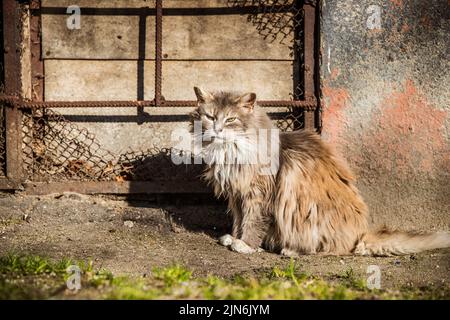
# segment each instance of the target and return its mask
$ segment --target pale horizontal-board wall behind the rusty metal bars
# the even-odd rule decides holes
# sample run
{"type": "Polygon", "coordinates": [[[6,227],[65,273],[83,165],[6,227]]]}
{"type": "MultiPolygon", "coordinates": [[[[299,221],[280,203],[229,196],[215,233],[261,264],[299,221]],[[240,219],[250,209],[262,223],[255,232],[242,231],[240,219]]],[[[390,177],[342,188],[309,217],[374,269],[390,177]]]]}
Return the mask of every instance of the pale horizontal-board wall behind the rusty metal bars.
{"type": "MultiPolygon", "coordinates": [[[[83,15],[84,8],[154,7],[147,0],[43,0],[43,8],[81,8],[80,29],[66,26],[68,15],[43,14],[42,54],[45,100],[135,100],[138,92],[139,17],[83,15]]],[[[165,8],[227,8],[227,0],[164,0],[165,8]]],[[[167,15],[163,18],[162,95],[167,100],[195,100],[193,86],[246,90],[259,99],[291,99],[292,35],[265,39],[248,15],[167,15]]],[[[146,18],[144,99],[154,98],[155,17],[146,18]]],[[[135,109],[58,109],[64,115],[101,115],[104,122],[79,123],[102,146],[120,154],[173,146],[173,129],[187,122],[114,121],[135,109]],[[133,136],[133,139],[129,139],[133,136]]],[[[145,108],[152,116],[187,115],[190,108],[145,108]]],[[[286,112],[287,109],[268,111],[286,112]]]]}

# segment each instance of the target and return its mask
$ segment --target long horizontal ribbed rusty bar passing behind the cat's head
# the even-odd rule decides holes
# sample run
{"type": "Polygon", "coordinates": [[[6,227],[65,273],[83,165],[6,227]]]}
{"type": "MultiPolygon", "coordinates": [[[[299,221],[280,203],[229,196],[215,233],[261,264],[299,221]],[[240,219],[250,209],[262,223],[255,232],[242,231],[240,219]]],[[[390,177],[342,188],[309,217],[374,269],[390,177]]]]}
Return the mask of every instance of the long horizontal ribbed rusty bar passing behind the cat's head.
{"type": "MultiPolygon", "coordinates": [[[[129,101],[25,101],[15,96],[0,95],[0,102],[19,109],[36,108],[136,108],[154,107],[154,100],[129,100],[129,101]]],[[[261,107],[302,107],[306,110],[314,110],[317,106],[316,98],[310,100],[261,100],[261,107]]],[[[195,100],[161,100],[160,107],[195,107],[195,100]]]]}

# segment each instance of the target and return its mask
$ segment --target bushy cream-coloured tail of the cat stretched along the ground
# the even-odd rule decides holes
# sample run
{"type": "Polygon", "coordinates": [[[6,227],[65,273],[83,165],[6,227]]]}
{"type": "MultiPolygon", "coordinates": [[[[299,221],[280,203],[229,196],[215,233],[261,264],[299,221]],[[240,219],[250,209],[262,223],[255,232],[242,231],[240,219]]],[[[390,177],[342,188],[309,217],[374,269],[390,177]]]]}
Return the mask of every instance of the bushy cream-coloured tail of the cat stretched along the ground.
{"type": "Polygon", "coordinates": [[[354,253],[364,256],[392,256],[448,247],[448,232],[406,232],[383,228],[365,234],[357,243],[354,253]]]}

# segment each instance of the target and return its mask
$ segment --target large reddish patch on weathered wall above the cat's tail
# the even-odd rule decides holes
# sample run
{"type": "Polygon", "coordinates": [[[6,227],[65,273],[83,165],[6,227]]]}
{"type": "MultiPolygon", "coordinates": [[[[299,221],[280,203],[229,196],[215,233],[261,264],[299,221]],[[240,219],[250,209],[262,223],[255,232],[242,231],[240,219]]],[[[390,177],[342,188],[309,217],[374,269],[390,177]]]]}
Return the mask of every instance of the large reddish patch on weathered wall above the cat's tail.
{"type": "Polygon", "coordinates": [[[406,177],[448,166],[450,145],[443,135],[448,112],[433,107],[412,81],[384,99],[379,110],[374,130],[363,139],[372,167],[406,177]]]}

